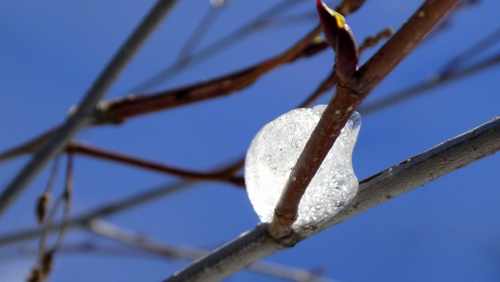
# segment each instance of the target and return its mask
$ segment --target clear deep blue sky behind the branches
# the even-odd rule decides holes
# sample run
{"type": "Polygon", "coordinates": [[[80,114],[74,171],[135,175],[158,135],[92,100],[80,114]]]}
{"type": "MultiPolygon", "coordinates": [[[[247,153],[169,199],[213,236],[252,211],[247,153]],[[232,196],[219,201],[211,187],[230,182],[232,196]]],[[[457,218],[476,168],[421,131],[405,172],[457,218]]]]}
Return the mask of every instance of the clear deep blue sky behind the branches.
{"type": "MultiPolygon", "coordinates": [[[[287,14],[313,10],[314,2],[303,0],[287,14]]],[[[361,41],[388,25],[398,28],[421,2],[368,0],[347,23],[361,41]]],[[[200,47],[275,3],[230,1],[200,47]]],[[[334,2],[327,3],[334,6],[334,2]]],[[[0,1],[0,150],[60,123],[152,4],[152,0],[0,1]]],[[[127,93],[173,63],[209,7],[207,0],[181,0],[106,98],[127,93]]],[[[449,27],[419,46],[365,104],[430,77],[450,57],[498,28],[499,10],[497,0],[481,0],[455,14],[449,27]]],[[[212,78],[277,54],[315,24],[311,19],[265,29],[156,90],[212,78]]],[[[497,44],[481,56],[499,48],[497,44]]],[[[366,52],[361,60],[371,53],[366,52]]],[[[77,139],[177,166],[213,168],[244,154],[258,129],[309,95],[332,64],[333,52],[328,50],[280,67],[231,96],[141,116],[120,126],[90,128],[77,139]]],[[[358,179],[500,115],[499,70],[477,73],[363,116],[353,154],[358,179]]],[[[1,164],[1,187],[27,160],[1,164]]],[[[266,260],[304,269],[321,267],[326,277],[343,282],[498,281],[499,161],[498,155],[483,159],[266,260]]],[[[62,172],[57,189],[62,187],[62,172]]],[[[46,171],[40,174],[0,218],[0,234],[35,225],[33,203],[47,177],[46,171]]],[[[175,181],[162,174],[76,157],[71,213],[175,181]]],[[[244,191],[205,184],[107,220],[170,244],[213,249],[251,229],[258,218],[244,191]]],[[[115,244],[82,231],[70,232],[65,242],[115,244]]],[[[23,281],[34,257],[14,256],[22,246],[36,246],[36,242],[0,249],[0,281],[23,281]]],[[[48,281],[157,282],[186,265],[150,258],[58,255],[48,281]]],[[[255,280],[282,281],[246,271],[228,281],[255,280]]]]}

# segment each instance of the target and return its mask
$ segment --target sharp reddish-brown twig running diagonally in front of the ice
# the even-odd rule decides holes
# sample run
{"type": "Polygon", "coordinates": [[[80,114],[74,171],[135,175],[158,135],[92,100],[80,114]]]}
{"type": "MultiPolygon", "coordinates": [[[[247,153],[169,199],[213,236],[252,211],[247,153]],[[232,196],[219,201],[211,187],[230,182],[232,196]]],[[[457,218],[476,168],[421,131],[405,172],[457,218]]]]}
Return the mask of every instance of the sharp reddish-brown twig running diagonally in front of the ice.
{"type": "Polygon", "coordinates": [[[426,0],[356,73],[340,79],[317,126],[290,173],[268,230],[286,236],[297,216],[298,203],[352,112],[368,93],[405,58],[458,0],[426,0]]]}

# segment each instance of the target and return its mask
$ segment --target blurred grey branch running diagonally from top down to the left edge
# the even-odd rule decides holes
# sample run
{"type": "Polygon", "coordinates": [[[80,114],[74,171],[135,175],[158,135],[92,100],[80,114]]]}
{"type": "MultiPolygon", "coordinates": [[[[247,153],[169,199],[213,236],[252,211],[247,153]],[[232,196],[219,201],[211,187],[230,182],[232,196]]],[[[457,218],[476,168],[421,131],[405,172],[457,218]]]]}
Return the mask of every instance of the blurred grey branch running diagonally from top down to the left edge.
{"type": "Polygon", "coordinates": [[[121,71],[176,2],[177,0],[159,0],[155,4],[90,87],[74,114],[57,131],[50,134],[28,164],[2,192],[0,195],[0,216],[17,199],[31,180],[48,164],[50,159],[59,154],[78,131],[93,121],[93,114],[99,100],[102,99],[121,71]]]}

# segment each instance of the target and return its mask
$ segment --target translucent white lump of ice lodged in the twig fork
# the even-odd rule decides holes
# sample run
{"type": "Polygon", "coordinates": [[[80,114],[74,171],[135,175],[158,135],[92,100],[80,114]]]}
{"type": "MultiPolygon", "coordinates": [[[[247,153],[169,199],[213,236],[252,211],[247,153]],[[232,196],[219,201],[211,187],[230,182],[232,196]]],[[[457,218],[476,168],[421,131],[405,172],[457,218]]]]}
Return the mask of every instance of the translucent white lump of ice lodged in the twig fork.
{"type": "MultiPolygon", "coordinates": [[[[253,209],[270,221],[292,167],[326,105],[291,110],[266,124],[253,138],[245,159],[245,184],[253,209]]],[[[361,118],[354,112],[307,187],[293,223],[295,231],[314,229],[354,198],[358,182],[352,150],[361,118]]]]}

